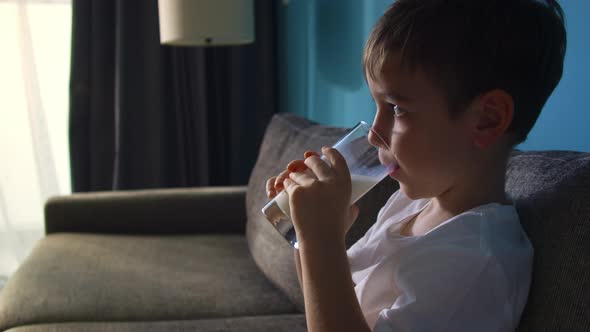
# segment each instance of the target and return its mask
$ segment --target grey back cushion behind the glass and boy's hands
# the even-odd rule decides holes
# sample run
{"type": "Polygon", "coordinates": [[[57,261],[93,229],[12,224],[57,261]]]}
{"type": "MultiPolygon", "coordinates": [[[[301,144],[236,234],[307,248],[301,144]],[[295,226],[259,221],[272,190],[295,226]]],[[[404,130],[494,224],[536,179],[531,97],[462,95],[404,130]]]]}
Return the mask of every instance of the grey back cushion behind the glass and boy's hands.
{"type": "MultiPolygon", "coordinates": [[[[333,145],[348,130],[320,126],[290,113],[276,114],[265,132],[258,159],[250,176],[246,192],[248,246],[258,267],[267,278],[303,312],[303,296],[297,281],[293,248],[267,221],[260,211],[268,201],[266,180],[285,169],[293,159],[302,159],[306,150],[320,151],[333,145]]],[[[398,188],[386,178],[359,202],[360,214],[346,238],[347,247],[358,240],[374,223],[379,208],[398,188]]]]}

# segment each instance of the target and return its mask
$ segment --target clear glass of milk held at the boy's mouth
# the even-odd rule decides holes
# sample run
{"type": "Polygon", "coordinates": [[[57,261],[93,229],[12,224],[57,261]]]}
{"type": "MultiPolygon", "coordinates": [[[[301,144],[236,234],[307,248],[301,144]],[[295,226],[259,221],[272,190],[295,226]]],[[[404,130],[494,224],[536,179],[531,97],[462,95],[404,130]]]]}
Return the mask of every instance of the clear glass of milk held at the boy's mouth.
{"type": "MultiPolygon", "coordinates": [[[[382,165],[379,161],[379,149],[369,143],[370,132],[371,126],[361,121],[333,145],[346,160],[350,171],[352,180],[351,205],[383,180],[390,171],[388,167],[382,165]]],[[[379,135],[376,135],[376,137],[379,137],[379,135]]],[[[325,156],[322,156],[322,159],[326,160],[325,156]]],[[[262,213],[289,244],[298,248],[295,228],[290,217],[289,196],[286,190],[281,191],[268,202],[262,208],[262,213]]]]}

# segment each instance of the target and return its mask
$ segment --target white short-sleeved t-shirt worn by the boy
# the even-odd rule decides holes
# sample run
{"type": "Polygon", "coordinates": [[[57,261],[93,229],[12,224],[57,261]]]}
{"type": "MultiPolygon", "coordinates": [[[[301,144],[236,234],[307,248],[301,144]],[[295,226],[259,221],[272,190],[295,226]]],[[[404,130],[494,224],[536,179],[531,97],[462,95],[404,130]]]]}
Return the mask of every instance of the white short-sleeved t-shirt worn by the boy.
{"type": "Polygon", "coordinates": [[[424,235],[400,235],[429,201],[398,190],[348,249],[367,323],[379,332],[514,331],[533,264],[514,206],[482,205],[424,235]]]}

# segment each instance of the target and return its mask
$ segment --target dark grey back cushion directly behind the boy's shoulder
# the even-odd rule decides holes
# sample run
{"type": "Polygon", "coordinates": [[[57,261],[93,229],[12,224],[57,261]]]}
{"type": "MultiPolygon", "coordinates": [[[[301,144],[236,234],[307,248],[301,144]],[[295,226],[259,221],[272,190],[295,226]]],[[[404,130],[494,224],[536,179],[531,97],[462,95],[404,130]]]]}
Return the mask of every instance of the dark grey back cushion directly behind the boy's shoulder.
{"type": "Polygon", "coordinates": [[[506,190],[535,249],[518,331],[590,331],[590,153],[515,152],[506,190]]]}

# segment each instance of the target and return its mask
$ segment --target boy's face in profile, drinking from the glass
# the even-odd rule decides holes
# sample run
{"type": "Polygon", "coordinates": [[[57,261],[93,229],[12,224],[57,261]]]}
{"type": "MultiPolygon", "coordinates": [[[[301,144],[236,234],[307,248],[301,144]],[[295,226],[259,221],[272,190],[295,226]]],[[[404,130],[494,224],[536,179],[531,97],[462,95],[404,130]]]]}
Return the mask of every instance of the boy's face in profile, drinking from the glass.
{"type": "Polygon", "coordinates": [[[472,159],[469,111],[451,118],[444,92],[423,71],[401,66],[397,55],[367,80],[377,105],[373,129],[390,147],[380,149],[380,159],[399,165],[391,177],[406,195],[438,197],[461,186],[472,159]]]}

